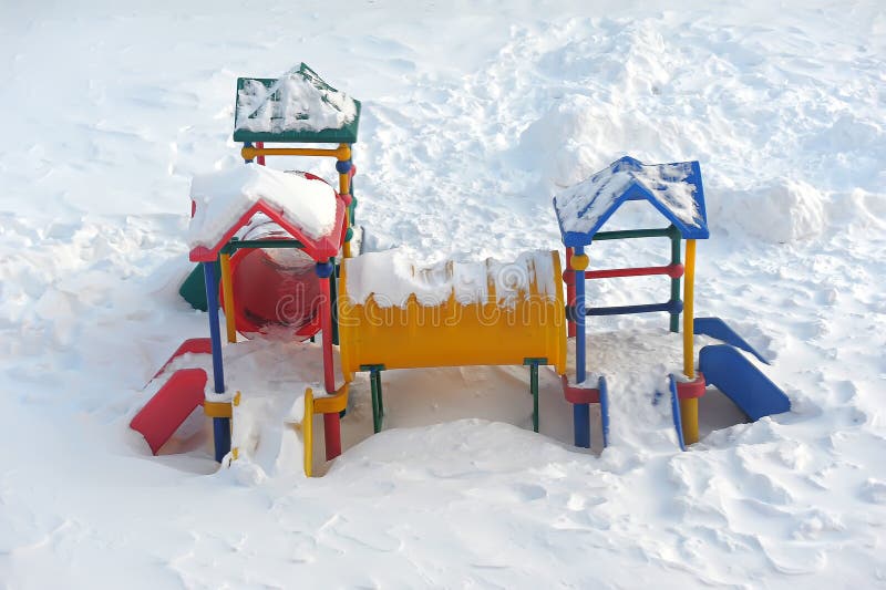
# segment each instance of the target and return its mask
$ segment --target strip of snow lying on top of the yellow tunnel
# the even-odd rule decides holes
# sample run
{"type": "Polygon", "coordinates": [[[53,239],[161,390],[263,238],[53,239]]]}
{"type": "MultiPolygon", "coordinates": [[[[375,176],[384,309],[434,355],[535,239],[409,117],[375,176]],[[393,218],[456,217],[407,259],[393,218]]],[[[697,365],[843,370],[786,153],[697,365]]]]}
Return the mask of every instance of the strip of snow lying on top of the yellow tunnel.
{"type": "Polygon", "coordinates": [[[513,308],[518,298],[557,297],[554,275],[556,252],[523,252],[513,262],[443,260],[416,267],[401,248],[368,252],[344,260],[348,299],[358,306],[369,298],[380,308],[405,308],[412,296],[422,306],[440,306],[450,297],[463,306],[485,303],[494,297],[513,308]],[[490,292],[492,288],[492,293],[490,292]]]}

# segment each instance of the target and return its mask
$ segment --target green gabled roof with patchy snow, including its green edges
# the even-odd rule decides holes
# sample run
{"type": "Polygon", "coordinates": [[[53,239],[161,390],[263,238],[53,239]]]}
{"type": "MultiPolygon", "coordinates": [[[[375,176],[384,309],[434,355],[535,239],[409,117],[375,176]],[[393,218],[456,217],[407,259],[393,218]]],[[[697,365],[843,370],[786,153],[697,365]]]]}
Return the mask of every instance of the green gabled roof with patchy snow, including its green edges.
{"type": "Polygon", "coordinates": [[[305,63],[279,79],[238,77],[234,141],[353,144],[360,124],[360,101],[327,84],[305,63]],[[321,116],[319,121],[311,121],[318,118],[316,113],[292,112],[292,102],[287,101],[286,95],[288,81],[307,82],[298,90],[309,89],[312,94],[309,99],[313,99],[315,107],[322,110],[321,115],[327,120],[321,116]],[[260,92],[262,86],[266,95],[260,92]],[[329,117],[339,124],[330,126],[329,117]]]}

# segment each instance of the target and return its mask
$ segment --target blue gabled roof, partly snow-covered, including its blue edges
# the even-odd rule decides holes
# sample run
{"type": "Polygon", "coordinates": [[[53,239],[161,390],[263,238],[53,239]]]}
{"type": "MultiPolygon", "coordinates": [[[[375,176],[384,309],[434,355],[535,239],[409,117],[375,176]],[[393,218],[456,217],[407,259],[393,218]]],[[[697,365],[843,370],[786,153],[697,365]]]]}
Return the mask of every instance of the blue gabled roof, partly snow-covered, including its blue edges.
{"type": "Polygon", "coordinates": [[[566,246],[587,246],[626,200],[648,200],[684,239],[708,238],[698,162],[650,164],[625,156],[554,197],[566,246]]]}

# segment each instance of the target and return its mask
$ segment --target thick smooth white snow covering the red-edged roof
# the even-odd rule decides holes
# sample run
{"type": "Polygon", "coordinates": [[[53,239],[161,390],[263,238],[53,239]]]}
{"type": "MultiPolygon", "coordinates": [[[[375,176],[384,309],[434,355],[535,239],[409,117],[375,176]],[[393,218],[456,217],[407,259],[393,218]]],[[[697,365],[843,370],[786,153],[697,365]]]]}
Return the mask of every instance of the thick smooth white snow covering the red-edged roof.
{"type": "Polygon", "coordinates": [[[190,198],[195,210],[187,231],[188,246],[209,250],[245,222],[243,217],[256,205],[315,240],[333,232],[340,207],[334,189],[323,180],[257,164],[195,176],[190,198]]]}

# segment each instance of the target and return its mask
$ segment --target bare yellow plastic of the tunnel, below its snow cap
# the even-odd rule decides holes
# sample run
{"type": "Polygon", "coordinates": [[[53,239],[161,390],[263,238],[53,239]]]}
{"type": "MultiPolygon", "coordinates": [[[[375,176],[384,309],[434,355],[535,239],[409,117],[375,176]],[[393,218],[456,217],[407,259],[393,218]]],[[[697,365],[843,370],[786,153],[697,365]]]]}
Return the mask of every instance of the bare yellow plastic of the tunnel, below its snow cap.
{"type": "Polygon", "coordinates": [[[498,303],[488,280],[486,301],[459,302],[452,294],[439,306],[422,304],[414,293],[405,306],[382,308],[369,296],[363,303],[348,297],[348,262],[341,271],[339,339],[342,371],[350,381],[361,365],[385,369],[521,365],[527,358],[545,358],[557,373],[566,371],[566,318],[559,253],[550,252],[552,277],[535,276],[528,293],[498,303]],[[554,297],[539,294],[538,284],[554,286],[554,297]],[[527,297],[528,294],[528,297],[527,297]]]}

